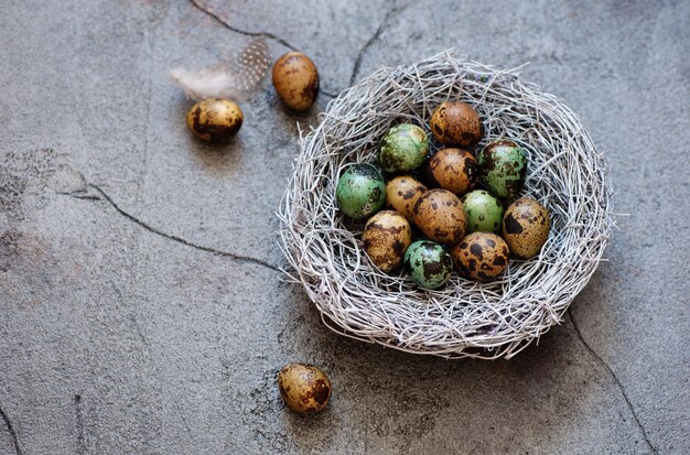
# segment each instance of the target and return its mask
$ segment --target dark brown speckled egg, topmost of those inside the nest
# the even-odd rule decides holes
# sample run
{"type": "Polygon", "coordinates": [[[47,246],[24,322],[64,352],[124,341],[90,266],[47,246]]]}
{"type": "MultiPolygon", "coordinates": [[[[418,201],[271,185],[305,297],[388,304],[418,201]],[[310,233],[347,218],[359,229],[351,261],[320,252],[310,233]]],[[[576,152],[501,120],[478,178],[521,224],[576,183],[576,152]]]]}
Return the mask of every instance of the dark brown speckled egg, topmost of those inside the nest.
{"type": "Polygon", "coordinates": [[[463,101],[442,102],[433,111],[430,127],[439,142],[461,147],[479,142],[484,133],[479,115],[463,101]]]}

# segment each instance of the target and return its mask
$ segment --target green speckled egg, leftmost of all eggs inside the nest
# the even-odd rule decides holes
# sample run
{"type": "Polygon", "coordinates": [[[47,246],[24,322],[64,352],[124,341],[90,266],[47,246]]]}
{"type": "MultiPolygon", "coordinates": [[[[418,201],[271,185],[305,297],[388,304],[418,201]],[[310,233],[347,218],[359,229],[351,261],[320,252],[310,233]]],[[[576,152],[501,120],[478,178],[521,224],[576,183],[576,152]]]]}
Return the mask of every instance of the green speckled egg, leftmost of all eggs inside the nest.
{"type": "Polygon", "coordinates": [[[367,163],[351,164],[335,187],[337,205],[353,219],[365,219],[386,202],[386,184],[378,169],[367,163]]]}

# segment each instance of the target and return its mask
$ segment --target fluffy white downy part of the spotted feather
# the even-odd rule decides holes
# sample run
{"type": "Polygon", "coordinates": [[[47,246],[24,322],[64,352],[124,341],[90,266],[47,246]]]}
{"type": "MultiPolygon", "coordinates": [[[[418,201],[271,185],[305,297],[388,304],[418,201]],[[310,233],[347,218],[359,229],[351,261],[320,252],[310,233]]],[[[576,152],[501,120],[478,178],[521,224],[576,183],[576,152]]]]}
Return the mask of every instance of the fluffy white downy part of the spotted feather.
{"type": "Polygon", "coordinates": [[[237,98],[240,95],[239,82],[227,68],[196,73],[177,68],[171,71],[170,75],[182,87],[187,98],[196,101],[214,97],[237,98]]]}

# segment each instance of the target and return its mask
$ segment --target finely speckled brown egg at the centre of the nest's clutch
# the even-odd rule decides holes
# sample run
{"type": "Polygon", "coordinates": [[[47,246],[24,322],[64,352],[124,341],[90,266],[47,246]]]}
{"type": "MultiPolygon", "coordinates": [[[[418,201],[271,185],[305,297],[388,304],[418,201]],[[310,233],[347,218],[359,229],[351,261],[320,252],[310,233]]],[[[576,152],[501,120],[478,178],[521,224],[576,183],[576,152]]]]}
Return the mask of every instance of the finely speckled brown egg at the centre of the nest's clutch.
{"type": "Polygon", "coordinates": [[[442,188],[428,191],[419,198],[413,220],[430,240],[446,245],[457,243],[467,227],[467,215],[460,198],[442,188]]]}

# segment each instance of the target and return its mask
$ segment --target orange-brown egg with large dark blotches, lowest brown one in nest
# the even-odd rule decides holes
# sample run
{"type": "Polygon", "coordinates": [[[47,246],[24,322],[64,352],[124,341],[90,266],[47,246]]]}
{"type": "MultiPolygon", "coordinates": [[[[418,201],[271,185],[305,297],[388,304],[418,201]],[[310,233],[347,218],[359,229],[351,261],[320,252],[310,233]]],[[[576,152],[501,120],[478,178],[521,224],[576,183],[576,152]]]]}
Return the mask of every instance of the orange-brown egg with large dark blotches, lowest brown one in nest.
{"type": "Polygon", "coordinates": [[[508,246],[493,232],[470,234],[451,249],[451,256],[457,273],[478,281],[499,275],[510,259],[508,246]]]}

